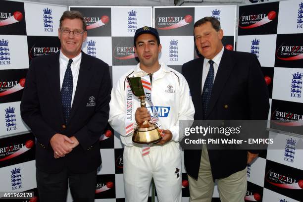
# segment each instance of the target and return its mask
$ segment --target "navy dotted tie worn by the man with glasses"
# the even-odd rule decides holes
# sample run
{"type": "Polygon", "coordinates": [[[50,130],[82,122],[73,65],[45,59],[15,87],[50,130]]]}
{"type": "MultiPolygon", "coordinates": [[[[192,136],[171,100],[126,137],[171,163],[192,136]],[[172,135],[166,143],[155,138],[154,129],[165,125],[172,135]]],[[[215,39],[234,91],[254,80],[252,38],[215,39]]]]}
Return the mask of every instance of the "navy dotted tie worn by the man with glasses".
{"type": "Polygon", "coordinates": [[[63,117],[65,124],[67,124],[67,120],[69,118],[70,109],[71,109],[71,99],[73,95],[73,74],[70,68],[72,62],[73,62],[72,59],[68,60],[68,65],[65,71],[62,88],[61,88],[61,99],[62,99],[63,117]]]}

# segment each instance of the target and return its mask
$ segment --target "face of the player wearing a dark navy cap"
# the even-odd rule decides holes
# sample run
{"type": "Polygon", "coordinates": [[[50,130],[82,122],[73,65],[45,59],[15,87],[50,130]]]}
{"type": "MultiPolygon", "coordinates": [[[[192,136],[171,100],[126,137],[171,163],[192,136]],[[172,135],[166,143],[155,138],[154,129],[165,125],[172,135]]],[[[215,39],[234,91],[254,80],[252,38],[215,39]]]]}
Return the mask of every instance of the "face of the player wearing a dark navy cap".
{"type": "Polygon", "coordinates": [[[152,34],[141,34],[138,36],[135,52],[140,60],[141,69],[146,71],[146,69],[157,70],[159,68],[158,56],[161,48],[161,45],[158,46],[157,40],[152,34]]]}

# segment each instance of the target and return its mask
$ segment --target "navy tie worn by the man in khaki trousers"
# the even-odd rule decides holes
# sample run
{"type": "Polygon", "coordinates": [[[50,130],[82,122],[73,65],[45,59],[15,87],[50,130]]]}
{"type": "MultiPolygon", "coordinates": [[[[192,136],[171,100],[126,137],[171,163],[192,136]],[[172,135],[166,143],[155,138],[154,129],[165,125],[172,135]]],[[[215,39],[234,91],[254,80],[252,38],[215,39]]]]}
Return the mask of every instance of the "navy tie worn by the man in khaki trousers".
{"type": "Polygon", "coordinates": [[[204,83],[203,91],[202,91],[202,107],[203,107],[203,117],[205,118],[206,116],[206,111],[208,108],[208,103],[210,100],[211,96],[211,89],[213,85],[213,77],[214,77],[214,70],[213,70],[213,63],[214,61],[209,60],[208,63],[210,64],[209,66],[209,71],[204,83]]]}

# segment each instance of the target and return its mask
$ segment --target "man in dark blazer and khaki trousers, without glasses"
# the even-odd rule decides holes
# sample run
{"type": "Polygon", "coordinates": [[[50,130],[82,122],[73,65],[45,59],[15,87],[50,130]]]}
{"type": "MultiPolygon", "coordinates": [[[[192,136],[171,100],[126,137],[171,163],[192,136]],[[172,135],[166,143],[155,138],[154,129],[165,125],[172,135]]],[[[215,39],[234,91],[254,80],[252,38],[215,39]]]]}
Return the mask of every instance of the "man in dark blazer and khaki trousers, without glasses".
{"type": "MultiPolygon", "coordinates": [[[[225,50],[220,22],[204,17],[194,25],[202,57],[182,66],[195,106],[195,120],[266,120],[268,90],[254,54],[225,50]]],[[[218,179],[221,202],[244,202],[247,163],[257,151],[185,150],[191,202],[210,202],[218,179]]]]}

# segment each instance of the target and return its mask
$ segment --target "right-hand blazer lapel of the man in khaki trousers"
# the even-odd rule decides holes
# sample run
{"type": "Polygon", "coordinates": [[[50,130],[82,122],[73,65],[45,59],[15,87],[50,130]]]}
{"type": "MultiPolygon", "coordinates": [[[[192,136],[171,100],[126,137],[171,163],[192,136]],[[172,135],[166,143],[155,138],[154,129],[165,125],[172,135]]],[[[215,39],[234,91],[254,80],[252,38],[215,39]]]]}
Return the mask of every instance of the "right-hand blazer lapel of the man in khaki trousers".
{"type": "Polygon", "coordinates": [[[212,108],[215,106],[216,101],[218,100],[223,87],[234,67],[234,62],[231,60],[229,50],[224,50],[222,54],[222,58],[220,61],[220,65],[212,86],[211,96],[209,100],[209,107],[206,111],[206,117],[208,117],[209,113],[211,112],[212,108]]]}

